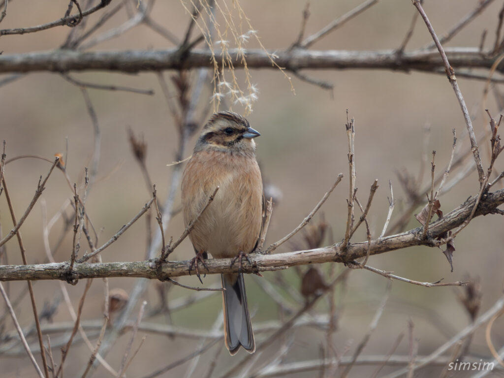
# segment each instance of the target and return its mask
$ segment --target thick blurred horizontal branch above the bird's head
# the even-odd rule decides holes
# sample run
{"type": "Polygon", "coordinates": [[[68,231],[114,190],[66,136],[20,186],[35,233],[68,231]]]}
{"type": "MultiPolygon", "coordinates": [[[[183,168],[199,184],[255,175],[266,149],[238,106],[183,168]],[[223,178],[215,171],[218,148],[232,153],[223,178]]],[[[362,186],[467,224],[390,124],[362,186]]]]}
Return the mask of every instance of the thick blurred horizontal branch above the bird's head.
{"type": "MultiPolygon", "coordinates": [[[[244,61],[236,49],[229,49],[235,68],[243,68],[244,61]]],[[[490,69],[495,57],[488,57],[477,48],[446,49],[454,68],[490,69]]],[[[396,50],[345,51],[345,50],[305,50],[280,49],[264,51],[246,50],[246,65],[253,69],[275,69],[278,66],[288,71],[301,69],[384,69],[399,71],[438,71],[443,69],[443,61],[437,50],[417,50],[397,53],[396,50]]],[[[0,55],[0,73],[12,72],[69,72],[69,71],[117,71],[145,72],[174,69],[213,69],[212,53],[194,49],[183,52],[168,50],[127,50],[127,51],[76,51],[52,50],[22,54],[0,55]]],[[[225,61],[219,54],[217,62],[225,61]]],[[[497,68],[502,72],[503,68],[497,68]]],[[[444,72],[444,71],[443,71],[444,72]]]]}

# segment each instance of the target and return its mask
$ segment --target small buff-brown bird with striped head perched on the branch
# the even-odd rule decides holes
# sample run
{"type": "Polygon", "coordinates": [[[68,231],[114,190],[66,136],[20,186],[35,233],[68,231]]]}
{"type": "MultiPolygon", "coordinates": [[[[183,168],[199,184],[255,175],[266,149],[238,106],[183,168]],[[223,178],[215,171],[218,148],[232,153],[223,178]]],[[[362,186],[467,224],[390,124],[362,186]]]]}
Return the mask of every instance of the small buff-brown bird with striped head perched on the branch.
{"type": "MultiPolygon", "coordinates": [[[[198,276],[198,263],[205,265],[207,254],[233,259],[231,265],[238,260],[241,268],[241,259],[248,259],[247,254],[257,247],[264,216],[263,180],[254,141],[259,136],[243,116],[219,111],[204,125],[184,168],[181,199],[185,227],[219,187],[189,234],[196,252],[191,268],[195,267],[198,276]]],[[[240,346],[249,353],[256,350],[240,270],[221,274],[224,341],[231,355],[240,346]]]]}

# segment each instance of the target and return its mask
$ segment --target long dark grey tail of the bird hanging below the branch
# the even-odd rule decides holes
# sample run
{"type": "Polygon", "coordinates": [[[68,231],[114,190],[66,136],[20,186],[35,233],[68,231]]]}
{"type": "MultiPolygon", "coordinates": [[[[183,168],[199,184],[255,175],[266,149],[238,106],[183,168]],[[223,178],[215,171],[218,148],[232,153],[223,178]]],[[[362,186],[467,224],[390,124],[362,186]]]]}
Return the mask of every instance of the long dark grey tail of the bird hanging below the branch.
{"type": "Polygon", "coordinates": [[[222,274],[222,292],[224,305],[224,340],[231,355],[240,345],[248,353],[256,351],[254,332],[248,313],[247,295],[243,274],[222,274]]]}

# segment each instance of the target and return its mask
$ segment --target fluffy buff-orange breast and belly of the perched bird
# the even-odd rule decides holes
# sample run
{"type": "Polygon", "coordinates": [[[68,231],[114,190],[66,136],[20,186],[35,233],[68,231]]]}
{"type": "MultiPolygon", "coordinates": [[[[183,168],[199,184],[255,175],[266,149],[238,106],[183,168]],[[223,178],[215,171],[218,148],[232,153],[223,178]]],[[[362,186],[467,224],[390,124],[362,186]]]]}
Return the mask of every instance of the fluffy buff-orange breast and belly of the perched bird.
{"type": "Polygon", "coordinates": [[[250,252],[262,224],[263,185],[256,159],[225,155],[203,151],[195,154],[182,178],[186,226],[219,186],[213,202],[189,235],[197,250],[207,251],[216,258],[250,252]]]}

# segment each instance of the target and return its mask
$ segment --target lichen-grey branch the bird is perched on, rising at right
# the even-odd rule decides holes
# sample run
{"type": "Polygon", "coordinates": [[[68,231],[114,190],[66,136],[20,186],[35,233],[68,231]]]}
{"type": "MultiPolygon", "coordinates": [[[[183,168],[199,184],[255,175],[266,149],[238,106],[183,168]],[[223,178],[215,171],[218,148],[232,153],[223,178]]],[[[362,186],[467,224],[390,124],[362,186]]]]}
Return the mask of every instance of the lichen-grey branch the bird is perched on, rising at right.
{"type": "MultiPolygon", "coordinates": [[[[427,237],[422,237],[422,228],[417,227],[407,232],[371,240],[370,255],[382,254],[387,251],[409,247],[412,245],[436,246],[435,238],[442,237],[446,232],[461,225],[467,219],[476,203],[476,198],[470,198],[464,204],[446,214],[443,219],[430,224],[427,237]]],[[[474,216],[495,213],[496,208],[504,203],[504,189],[482,196],[474,216]]],[[[350,243],[347,248],[340,244],[299,250],[274,255],[249,255],[251,264],[243,262],[245,273],[257,273],[286,269],[296,265],[318,264],[327,262],[345,263],[366,256],[369,245],[367,241],[350,243]]],[[[202,273],[218,274],[237,272],[238,264],[230,266],[230,259],[209,259],[208,271],[201,268],[202,273]]],[[[75,264],[69,274],[69,264],[52,263],[36,265],[4,265],[0,266],[0,281],[19,280],[69,280],[101,277],[143,277],[150,279],[166,279],[189,275],[191,261],[176,261],[163,263],[159,270],[154,261],[117,262],[96,264],[75,264]]]]}

